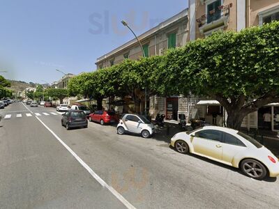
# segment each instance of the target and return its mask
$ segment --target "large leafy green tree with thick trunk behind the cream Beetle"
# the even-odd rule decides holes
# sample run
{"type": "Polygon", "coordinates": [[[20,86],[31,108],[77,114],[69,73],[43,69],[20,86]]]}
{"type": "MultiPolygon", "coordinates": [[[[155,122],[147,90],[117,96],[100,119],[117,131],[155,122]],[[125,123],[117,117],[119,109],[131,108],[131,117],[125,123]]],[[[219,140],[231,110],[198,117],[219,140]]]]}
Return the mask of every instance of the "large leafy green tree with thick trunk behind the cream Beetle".
{"type": "Polygon", "coordinates": [[[273,22],[239,33],[214,33],[171,50],[159,89],[218,100],[227,111],[227,126],[239,130],[247,114],[279,102],[278,31],[279,22],[273,22]]]}

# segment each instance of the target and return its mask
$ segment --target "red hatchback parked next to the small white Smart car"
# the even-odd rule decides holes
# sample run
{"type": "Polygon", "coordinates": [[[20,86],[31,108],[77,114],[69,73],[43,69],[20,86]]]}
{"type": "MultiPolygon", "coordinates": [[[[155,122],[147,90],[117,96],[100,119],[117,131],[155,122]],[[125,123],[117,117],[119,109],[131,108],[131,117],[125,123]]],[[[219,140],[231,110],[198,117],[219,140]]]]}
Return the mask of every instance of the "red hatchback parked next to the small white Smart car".
{"type": "Polygon", "coordinates": [[[113,111],[97,110],[93,114],[89,115],[89,121],[94,121],[100,123],[100,125],[105,125],[105,123],[117,123],[118,118],[113,111]]]}

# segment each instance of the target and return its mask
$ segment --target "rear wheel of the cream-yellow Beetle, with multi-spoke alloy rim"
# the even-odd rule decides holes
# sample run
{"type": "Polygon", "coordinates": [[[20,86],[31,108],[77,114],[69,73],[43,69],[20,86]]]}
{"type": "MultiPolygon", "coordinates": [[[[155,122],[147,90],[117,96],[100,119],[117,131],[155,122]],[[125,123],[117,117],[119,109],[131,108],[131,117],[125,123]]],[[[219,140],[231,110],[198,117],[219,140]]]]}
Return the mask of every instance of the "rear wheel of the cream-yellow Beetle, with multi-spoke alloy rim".
{"type": "Polygon", "coordinates": [[[241,162],[241,171],[251,178],[255,178],[257,180],[262,180],[266,177],[266,167],[257,161],[252,159],[243,160],[241,162]]]}

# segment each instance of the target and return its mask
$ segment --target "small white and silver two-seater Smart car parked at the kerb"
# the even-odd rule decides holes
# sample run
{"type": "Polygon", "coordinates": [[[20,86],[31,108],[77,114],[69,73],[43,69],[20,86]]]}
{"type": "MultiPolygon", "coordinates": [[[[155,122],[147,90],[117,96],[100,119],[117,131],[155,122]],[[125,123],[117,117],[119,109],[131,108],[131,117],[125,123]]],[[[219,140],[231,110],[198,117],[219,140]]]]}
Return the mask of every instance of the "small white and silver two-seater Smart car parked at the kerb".
{"type": "Polygon", "coordinates": [[[144,116],[137,114],[125,114],[117,125],[117,133],[126,132],[141,134],[144,138],[149,138],[154,133],[154,125],[144,116]]]}

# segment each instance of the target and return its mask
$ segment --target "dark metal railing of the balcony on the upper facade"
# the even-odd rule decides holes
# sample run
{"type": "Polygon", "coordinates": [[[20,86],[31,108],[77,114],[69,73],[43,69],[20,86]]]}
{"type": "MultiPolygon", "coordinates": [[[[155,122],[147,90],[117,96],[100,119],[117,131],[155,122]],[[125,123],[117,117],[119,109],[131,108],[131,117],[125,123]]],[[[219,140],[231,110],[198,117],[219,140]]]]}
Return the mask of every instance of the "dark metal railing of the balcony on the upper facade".
{"type": "Polygon", "coordinates": [[[197,24],[199,27],[204,24],[209,24],[215,20],[219,20],[221,17],[229,15],[229,8],[232,8],[232,3],[226,6],[219,6],[216,10],[211,10],[207,15],[202,15],[202,17],[197,18],[197,24]]]}

